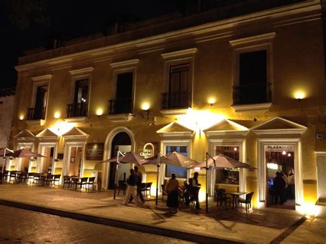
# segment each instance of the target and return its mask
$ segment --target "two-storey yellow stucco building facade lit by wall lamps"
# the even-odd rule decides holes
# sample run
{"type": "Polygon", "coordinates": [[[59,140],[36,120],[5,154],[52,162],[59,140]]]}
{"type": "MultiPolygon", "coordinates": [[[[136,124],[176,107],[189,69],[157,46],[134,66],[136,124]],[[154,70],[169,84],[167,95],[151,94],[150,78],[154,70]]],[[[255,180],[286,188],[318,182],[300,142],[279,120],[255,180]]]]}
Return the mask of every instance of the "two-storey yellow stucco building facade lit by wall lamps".
{"type": "MultiPolygon", "coordinates": [[[[113,186],[114,166],[99,162],[118,150],[179,151],[198,162],[206,153],[223,153],[257,169],[210,171],[210,196],[216,188],[254,192],[253,208],[269,208],[276,171],[292,170],[294,199],[287,196],[286,208],[323,209],[326,82],[320,1],[228,19],[215,18],[216,13],[163,16],[122,33],[22,56],[12,146],[48,157],[12,160],[8,167],[96,175],[98,188],[107,189],[113,186]]],[[[119,167],[121,180],[130,166],[119,167]]],[[[156,167],[141,170],[155,195],[156,167]]],[[[160,184],[173,170],[180,181],[194,171],[162,166],[160,184]]],[[[201,196],[205,174],[199,170],[201,196]]]]}

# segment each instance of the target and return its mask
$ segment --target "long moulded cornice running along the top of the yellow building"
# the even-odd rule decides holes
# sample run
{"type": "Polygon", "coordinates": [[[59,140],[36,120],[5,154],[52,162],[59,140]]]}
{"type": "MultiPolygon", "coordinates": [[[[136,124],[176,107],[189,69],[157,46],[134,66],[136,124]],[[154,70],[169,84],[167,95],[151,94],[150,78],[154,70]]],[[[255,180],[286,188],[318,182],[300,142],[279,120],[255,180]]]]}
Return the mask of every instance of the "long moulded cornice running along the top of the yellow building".
{"type": "MultiPolygon", "coordinates": [[[[116,45],[109,45],[106,47],[100,47],[97,49],[90,49],[87,51],[83,51],[83,52],[77,52],[74,54],[68,54],[65,56],[59,56],[59,57],[55,57],[55,58],[50,58],[50,59],[45,59],[45,60],[39,60],[36,61],[34,63],[28,63],[28,64],[24,64],[24,65],[17,65],[15,67],[15,69],[18,72],[21,71],[25,71],[28,69],[32,69],[32,67],[36,66],[36,65],[54,65],[54,64],[58,64],[58,63],[62,63],[62,62],[67,62],[67,60],[72,60],[73,58],[78,58],[78,57],[82,57],[82,56],[87,56],[88,54],[90,54],[91,56],[99,56],[99,55],[103,55],[103,54],[109,54],[111,56],[113,56],[112,52],[113,49],[119,50],[119,49],[124,49],[124,48],[128,48],[128,47],[137,47],[139,49],[142,50],[142,52],[145,52],[145,49],[153,49],[153,45],[161,45],[166,43],[166,38],[177,38],[177,37],[186,37],[189,36],[190,34],[193,36],[194,39],[196,39],[197,37],[201,38],[201,41],[204,41],[204,38],[202,35],[203,34],[208,34],[207,38],[208,41],[211,39],[211,35],[209,35],[210,33],[213,34],[213,32],[219,31],[221,32],[221,30],[230,28],[230,27],[237,27],[237,26],[241,26],[241,24],[244,23],[250,23],[250,22],[257,22],[257,21],[261,21],[261,19],[266,18],[268,19],[268,25],[270,24],[275,24],[277,23],[277,21],[284,21],[284,19],[282,19],[284,16],[291,16],[294,14],[303,14],[303,13],[309,13],[312,12],[310,15],[314,15],[316,16],[316,13],[314,13],[314,11],[316,10],[320,10],[321,9],[321,5],[320,2],[317,0],[314,1],[307,1],[304,3],[296,3],[296,4],[292,4],[292,5],[287,5],[287,6],[282,6],[280,8],[273,8],[271,10],[264,10],[261,12],[254,12],[251,14],[246,14],[243,16],[237,16],[231,19],[225,19],[225,20],[221,20],[221,21],[215,21],[212,23],[206,23],[203,25],[197,25],[194,27],[187,27],[183,30],[177,30],[177,31],[173,31],[173,32],[166,32],[163,34],[158,34],[156,36],[149,36],[149,37],[145,37],[145,38],[140,38],[137,40],[133,40],[133,41],[126,41],[123,43],[119,43],[116,45]]],[[[321,12],[319,14],[321,16],[321,12]]],[[[304,21],[306,21],[307,16],[303,16],[302,18],[297,17],[296,19],[293,20],[294,23],[298,23],[301,21],[301,19],[304,19],[304,21]]],[[[290,19],[291,21],[291,19],[290,19]]],[[[228,35],[230,35],[229,32],[227,32],[228,35]]],[[[155,48],[154,48],[155,49],[155,48]]],[[[130,50],[129,50],[130,52],[130,50]]]]}

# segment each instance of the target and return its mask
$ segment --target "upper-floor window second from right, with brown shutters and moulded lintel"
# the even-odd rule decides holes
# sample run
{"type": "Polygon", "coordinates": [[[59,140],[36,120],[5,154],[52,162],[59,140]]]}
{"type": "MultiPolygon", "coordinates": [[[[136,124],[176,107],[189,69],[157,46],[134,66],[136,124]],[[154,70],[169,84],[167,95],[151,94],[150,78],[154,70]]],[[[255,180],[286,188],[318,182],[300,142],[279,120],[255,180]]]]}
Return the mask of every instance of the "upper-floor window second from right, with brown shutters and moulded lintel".
{"type": "Polygon", "coordinates": [[[166,89],[161,109],[187,109],[192,105],[193,59],[197,48],[161,54],[166,60],[166,89]]]}

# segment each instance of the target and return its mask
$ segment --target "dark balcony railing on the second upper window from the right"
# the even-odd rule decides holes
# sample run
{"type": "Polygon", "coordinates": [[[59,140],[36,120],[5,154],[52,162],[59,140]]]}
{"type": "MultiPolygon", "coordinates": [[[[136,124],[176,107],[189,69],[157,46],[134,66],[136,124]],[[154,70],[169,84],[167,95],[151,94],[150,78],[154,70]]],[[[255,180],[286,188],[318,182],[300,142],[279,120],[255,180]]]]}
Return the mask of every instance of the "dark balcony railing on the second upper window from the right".
{"type": "Polygon", "coordinates": [[[191,91],[162,93],[161,109],[184,109],[191,107],[191,91]]]}

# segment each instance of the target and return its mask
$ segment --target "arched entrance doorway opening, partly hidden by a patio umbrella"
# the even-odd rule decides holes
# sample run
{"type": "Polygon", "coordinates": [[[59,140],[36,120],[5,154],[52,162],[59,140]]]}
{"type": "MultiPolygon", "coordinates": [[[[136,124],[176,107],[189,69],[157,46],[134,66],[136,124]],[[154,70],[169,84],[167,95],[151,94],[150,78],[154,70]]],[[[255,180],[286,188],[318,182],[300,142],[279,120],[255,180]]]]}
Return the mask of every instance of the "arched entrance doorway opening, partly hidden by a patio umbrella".
{"type": "MultiPolygon", "coordinates": [[[[111,157],[116,157],[118,155],[118,151],[122,152],[129,152],[131,151],[131,139],[129,135],[125,132],[120,132],[118,133],[112,140],[111,144],[111,157]]],[[[124,179],[124,173],[129,173],[130,169],[130,164],[120,164],[118,168],[118,179],[124,179]]],[[[110,163],[109,166],[109,184],[108,188],[109,189],[114,189],[116,181],[116,163],[110,163]]]]}

